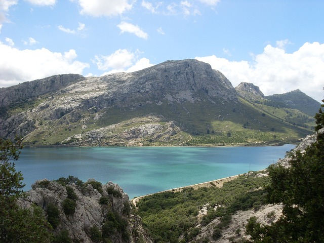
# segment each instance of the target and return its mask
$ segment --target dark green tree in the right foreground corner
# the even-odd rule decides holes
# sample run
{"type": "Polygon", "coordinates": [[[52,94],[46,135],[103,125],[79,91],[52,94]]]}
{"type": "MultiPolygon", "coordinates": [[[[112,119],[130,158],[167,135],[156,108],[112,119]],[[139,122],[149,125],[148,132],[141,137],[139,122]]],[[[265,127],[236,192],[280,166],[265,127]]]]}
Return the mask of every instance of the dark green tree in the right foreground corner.
{"type": "MultiPolygon", "coordinates": [[[[324,100],[322,100],[324,102],[324,100]]],[[[321,105],[324,107],[324,105],[321,105]]],[[[270,226],[251,219],[250,242],[324,242],[324,113],[315,115],[317,140],[292,156],[291,166],[268,168],[270,203],[284,205],[282,216],[270,226]]]]}

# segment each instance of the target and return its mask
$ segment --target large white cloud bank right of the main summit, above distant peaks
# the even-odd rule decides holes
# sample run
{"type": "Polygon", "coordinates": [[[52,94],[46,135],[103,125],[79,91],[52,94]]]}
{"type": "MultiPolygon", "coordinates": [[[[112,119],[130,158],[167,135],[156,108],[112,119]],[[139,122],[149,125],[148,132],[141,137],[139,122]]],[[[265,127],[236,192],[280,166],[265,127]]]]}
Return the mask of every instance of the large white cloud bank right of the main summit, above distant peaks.
{"type": "Polygon", "coordinates": [[[317,101],[324,96],[324,44],[305,43],[294,53],[267,45],[251,63],[229,61],[215,55],[196,59],[221,71],[234,87],[248,82],[259,86],[265,95],[299,89],[317,101]]]}

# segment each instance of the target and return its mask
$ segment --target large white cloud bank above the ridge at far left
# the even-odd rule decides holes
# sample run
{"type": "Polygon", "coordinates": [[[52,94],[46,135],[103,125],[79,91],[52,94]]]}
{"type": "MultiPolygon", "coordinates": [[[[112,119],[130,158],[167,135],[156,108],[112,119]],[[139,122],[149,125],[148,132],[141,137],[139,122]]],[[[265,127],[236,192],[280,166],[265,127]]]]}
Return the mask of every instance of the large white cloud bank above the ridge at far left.
{"type": "Polygon", "coordinates": [[[54,74],[79,73],[88,63],[76,61],[74,50],[65,53],[48,49],[19,50],[0,42],[0,87],[8,87],[54,74]]]}

